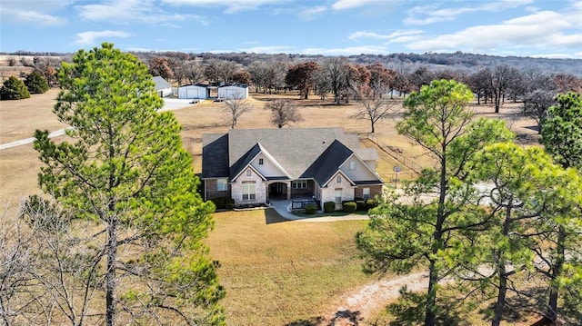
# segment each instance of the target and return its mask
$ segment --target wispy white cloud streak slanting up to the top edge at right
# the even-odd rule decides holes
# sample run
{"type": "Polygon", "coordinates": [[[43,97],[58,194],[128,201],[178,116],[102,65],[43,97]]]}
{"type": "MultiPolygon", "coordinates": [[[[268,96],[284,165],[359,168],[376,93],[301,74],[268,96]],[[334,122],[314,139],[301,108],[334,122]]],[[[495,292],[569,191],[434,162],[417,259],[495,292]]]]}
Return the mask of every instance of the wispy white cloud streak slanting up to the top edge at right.
{"type": "Polygon", "coordinates": [[[430,25],[441,22],[451,22],[457,16],[467,13],[488,12],[495,13],[502,10],[516,8],[531,4],[533,0],[501,0],[484,2],[481,5],[470,3],[469,6],[449,7],[438,9],[438,5],[416,6],[408,10],[408,16],[404,19],[406,25],[430,25]]]}

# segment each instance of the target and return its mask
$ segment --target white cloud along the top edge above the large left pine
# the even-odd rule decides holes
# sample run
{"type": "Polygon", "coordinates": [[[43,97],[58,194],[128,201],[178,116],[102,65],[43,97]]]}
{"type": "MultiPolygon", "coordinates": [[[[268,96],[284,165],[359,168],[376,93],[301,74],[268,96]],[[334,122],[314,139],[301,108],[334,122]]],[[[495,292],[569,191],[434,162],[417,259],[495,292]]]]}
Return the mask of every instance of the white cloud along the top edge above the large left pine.
{"type": "Polygon", "coordinates": [[[101,4],[79,5],[77,9],[82,18],[92,22],[172,24],[194,20],[202,25],[207,24],[206,19],[198,15],[167,13],[153,0],[106,0],[101,4]]]}

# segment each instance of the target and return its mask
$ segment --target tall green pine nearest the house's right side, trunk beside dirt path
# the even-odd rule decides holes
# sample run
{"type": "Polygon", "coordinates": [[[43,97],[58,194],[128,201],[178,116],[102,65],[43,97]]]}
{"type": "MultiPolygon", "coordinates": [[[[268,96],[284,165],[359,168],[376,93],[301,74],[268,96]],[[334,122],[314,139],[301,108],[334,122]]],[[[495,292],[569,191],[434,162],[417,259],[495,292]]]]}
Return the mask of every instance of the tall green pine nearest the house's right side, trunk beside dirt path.
{"type": "Polygon", "coordinates": [[[466,85],[453,80],[436,80],[410,94],[396,128],[426,149],[437,168],[426,168],[407,187],[406,200],[389,198],[380,204],[368,229],[356,237],[371,271],[409,272],[427,265],[426,326],[437,319],[438,282],[456,268],[453,257],[462,253],[457,236],[484,224],[478,208],[467,204],[471,189],[459,182],[467,176],[464,166],[478,149],[512,137],[503,122],[471,123],[466,105],[472,98],[466,85]]]}

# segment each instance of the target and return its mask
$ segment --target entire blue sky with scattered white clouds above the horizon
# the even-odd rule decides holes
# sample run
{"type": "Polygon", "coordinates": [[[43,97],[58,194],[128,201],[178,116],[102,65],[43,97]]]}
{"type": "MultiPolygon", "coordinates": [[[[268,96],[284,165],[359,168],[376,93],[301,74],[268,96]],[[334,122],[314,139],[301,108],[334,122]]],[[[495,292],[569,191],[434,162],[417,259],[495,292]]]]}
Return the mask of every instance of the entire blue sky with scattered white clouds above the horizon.
{"type": "Polygon", "coordinates": [[[0,0],[0,51],[582,58],[582,0],[0,0]]]}

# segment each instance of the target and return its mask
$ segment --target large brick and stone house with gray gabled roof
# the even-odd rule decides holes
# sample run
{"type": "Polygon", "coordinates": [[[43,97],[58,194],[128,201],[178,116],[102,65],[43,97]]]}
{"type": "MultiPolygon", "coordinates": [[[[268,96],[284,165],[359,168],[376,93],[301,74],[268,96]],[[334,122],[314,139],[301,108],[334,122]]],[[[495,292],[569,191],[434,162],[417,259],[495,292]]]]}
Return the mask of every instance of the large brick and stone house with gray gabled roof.
{"type": "Polygon", "coordinates": [[[320,205],[382,192],[375,149],[341,128],[233,129],[203,135],[205,200],[236,205],[315,199],[320,205]]]}

